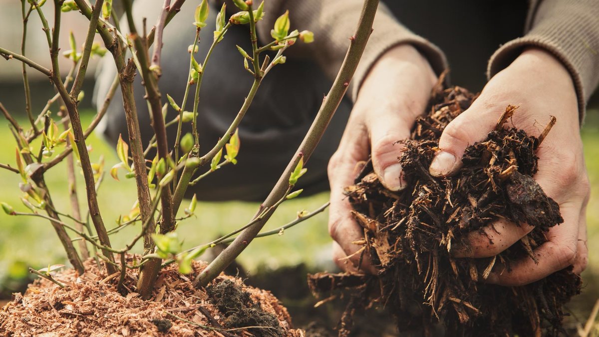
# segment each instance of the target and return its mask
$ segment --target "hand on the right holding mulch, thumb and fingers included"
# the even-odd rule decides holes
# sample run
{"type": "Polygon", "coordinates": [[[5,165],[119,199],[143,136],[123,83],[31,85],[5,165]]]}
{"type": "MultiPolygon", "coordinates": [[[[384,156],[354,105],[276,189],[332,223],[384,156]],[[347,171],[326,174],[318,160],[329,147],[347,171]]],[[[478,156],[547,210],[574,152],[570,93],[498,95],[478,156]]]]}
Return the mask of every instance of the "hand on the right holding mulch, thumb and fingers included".
{"type": "MultiPolygon", "coordinates": [[[[549,122],[550,115],[557,119],[537,152],[539,171],[534,179],[559,204],[564,223],[550,228],[547,242],[534,250],[538,264],[530,257],[523,258],[515,261],[510,271],[496,267],[486,281],[524,285],[571,264],[574,272],[580,273],[588,260],[585,213],[590,188],[574,85],[568,71],[551,54],[527,49],[495,75],[472,106],[447,125],[439,141],[441,151],[435,155],[429,171],[433,176],[455,173],[465,148],[486,139],[508,104],[520,104],[513,115],[513,125],[535,136],[549,122]]],[[[500,220],[483,228],[484,233],[468,233],[470,248],[458,247],[452,249],[452,254],[491,257],[531,230],[533,227],[526,224],[500,220]]]]}

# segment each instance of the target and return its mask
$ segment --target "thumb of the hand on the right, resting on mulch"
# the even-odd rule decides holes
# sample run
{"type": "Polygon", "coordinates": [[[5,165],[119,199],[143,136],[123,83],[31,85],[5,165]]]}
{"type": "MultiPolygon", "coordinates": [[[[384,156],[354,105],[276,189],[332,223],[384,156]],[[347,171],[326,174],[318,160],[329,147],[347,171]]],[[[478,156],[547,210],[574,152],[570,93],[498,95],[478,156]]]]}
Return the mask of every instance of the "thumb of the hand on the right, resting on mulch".
{"type": "Polygon", "coordinates": [[[456,173],[462,165],[465,149],[486,139],[502,111],[498,106],[489,107],[479,97],[469,109],[447,124],[439,139],[439,151],[429,167],[431,175],[441,177],[456,173]]]}

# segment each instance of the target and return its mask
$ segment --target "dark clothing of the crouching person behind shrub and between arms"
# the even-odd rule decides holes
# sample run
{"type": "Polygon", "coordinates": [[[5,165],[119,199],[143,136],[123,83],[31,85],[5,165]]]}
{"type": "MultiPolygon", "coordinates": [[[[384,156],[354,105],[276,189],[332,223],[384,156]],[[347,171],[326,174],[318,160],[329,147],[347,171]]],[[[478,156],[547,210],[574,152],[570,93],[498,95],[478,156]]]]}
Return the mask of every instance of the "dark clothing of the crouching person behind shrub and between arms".
{"type": "MultiPolygon", "coordinates": [[[[136,2],[138,17],[155,22],[161,6],[159,1],[136,2]],[[143,4],[143,5],[142,5],[143,4]],[[151,5],[150,5],[151,4],[151,5]]],[[[524,27],[526,5],[522,1],[388,1],[389,8],[401,22],[417,34],[442,47],[453,65],[452,78],[456,84],[480,90],[485,83],[486,60],[500,43],[521,35],[524,27]]],[[[212,8],[208,22],[214,22],[212,8]]],[[[140,19],[141,20],[141,19],[140,19]]],[[[165,48],[162,51],[162,77],[159,82],[163,97],[170,94],[178,104],[183,99],[189,67],[187,46],[193,43],[193,4],[186,3],[176,20],[164,32],[165,48]]],[[[298,27],[310,29],[309,27],[298,27]]],[[[351,32],[347,32],[349,36],[351,32]]],[[[209,25],[201,31],[201,43],[196,60],[201,62],[213,38],[209,25]]],[[[318,38],[317,36],[315,38],[318,38]]],[[[204,73],[201,88],[198,129],[201,154],[207,152],[225,133],[243,104],[252,86],[253,78],[243,68],[243,59],[235,44],[251,50],[249,32],[245,26],[229,30],[216,47],[204,73]]],[[[291,51],[293,47],[289,50],[291,51]]],[[[112,60],[104,60],[96,85],[96,101],[101,101],[115,74],[112,60]]],[[[277,65],[265,77],[252,106],[240,124],[240,154],[236,166],[225,166],[195,185],[190,193],[200,200],[264,199],[291,160],[299,143],[316,116],[323,95],[328,92],[331,80],[310,59],[294,57],[292,53],[284,65],[277,65]]],[[[190,89],[186,110],[193,109],[193,92],[190,89]]],[[[144,145],[153,135],[144,89],[139,77],[135,80],[135,97],[144,145]]],[[[114,98],[104,125],[100,128],[113,144],[119,134],[127,134],[125,114],[120,91],[114,98]]],[[[166,100],[163,100],[166,101],[166,100]]],[[[337,149],[349,118],[352,102],[346,98],[329,125],[325,136],[307,164],[308,171],[298,182],[303,195],[328,189],[326,167],[337,149]]],[[[175,118],[170,109],[167,121],[175,118]]],[[[183,134],[191,132],[184,124],[183,134]]],[[[176,125],[168,129],[169,144],[174,144],[176,125]]],[[[206,168],[201,168],[202,173],[206,168]]]]}

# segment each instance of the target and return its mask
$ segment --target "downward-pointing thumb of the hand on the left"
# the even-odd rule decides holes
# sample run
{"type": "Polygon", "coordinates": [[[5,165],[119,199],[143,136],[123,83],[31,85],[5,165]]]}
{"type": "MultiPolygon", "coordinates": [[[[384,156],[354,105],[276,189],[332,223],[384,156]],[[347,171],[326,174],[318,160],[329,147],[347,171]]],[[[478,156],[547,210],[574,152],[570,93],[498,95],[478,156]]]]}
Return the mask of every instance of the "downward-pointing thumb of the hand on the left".
{"type": "Polygon", "coordinates": [[[385,111],[371,114],[368,127],[374,173],[386,188],[401,191],[407,184],[399,162],[403,145],[398,142],[410,137],[411,123],[397,112],[385,111]]]}

